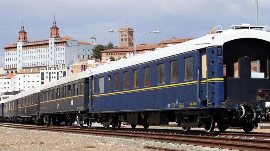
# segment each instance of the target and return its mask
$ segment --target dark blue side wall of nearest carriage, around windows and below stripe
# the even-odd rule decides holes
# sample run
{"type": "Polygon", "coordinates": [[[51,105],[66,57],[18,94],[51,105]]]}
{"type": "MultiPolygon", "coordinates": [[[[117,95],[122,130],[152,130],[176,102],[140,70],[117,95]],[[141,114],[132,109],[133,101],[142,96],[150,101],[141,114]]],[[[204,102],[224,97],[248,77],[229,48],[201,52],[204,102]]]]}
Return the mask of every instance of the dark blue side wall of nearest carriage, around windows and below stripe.
{"type": "MultiPolygon", "coordinates": [[[[114,93],[114,74],[119,73],[120,75],[120,91],[123,92],[124,85],[124,74],[123,72],[129,71],[129,90],[148,88],[144,87],[144,67],[150,66],[151,68],[151,85],[149,87],[157,87],[169,84],[187,83],[197,81],[197,51],[173,56],[165,59],[160,59],[125,69],[111,71],[105,74],[99,74],[94,78],[104,78],[104,93],[108,93],[107,89],[107,76],[111,75],[111,86],[114,93]],[[193,79],[184,80],[184,58],[193,56],[193,79]],[[178,82],[170,83],[170,61],[178,60],[178,82]],[[165,84],[157,84],[157,65],[165,63],[165,84]],[[139,88],[133,88],[133,70],[139,69],[139,88]]],[[[97,82],[98,84],[98,82],[97,82]]],[[[121,93],[114,95],[94,95],[93,104],[94,112],[125,112],[133,110],[171,110],[181,109],[198,109],[198,87],[197,83],[194,82],[192,85],[182,85],[170,88],[160,88],[155,90],[145,90],[140,92],[121,93]],[[177,103],[176,103],[177,102],[177,103]],[[179,103],[183,103],[179,107],[179,103]]],[[[98,90],[99,92],[99,90],[98,90]]],[[[99,94],[97,94],[99,95],[99,94]]]]}

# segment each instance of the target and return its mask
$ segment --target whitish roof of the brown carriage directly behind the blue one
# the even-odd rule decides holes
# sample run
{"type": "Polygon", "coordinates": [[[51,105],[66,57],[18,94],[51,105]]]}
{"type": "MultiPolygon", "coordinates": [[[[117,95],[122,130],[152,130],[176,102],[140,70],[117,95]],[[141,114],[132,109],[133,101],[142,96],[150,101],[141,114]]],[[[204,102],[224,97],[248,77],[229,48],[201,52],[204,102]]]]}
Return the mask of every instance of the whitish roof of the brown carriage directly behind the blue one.
{"type": "Polygon", "coordinates": [[[72,81],[75,81],[75,80],[87,78],[87,77],[89,77],[90,72],[91,72],[91,70],[87,69],[86,71],[79,72],[77,74],[73,74],[71,76],[64,77],[64,78],[62,78],[60,80],[56,80],[56,81],[52,81],[52,82],[42,84],[41,85],[42,86],[41,90],[52,88],[52,87],[55,87],[55,86],[58,86],[58,85],[61,85],[61,84],[65,84],[65,83],[68,83],[68,82],[72,82],[72,81]]]}

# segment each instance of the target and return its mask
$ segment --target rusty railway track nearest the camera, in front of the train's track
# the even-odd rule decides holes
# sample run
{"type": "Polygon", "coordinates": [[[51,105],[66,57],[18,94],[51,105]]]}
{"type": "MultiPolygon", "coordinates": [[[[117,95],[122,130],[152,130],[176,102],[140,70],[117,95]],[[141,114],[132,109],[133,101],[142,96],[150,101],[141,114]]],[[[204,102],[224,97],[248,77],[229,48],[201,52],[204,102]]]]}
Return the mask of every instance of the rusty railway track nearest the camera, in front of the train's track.
{"type": "Polygon", "coordinates": [[[98,129],[65,129],[65,128],[50,128],[50,127],[35,127],[35,126],[23,126],[23,125],[11,125],[0,124],[0,126],[10,128],[21,129],[34,129],[43,131],[59,131],[67,133],[79,133],[79,134],[93,134],[93,135],[112,135],[129,138],[150,138],[154,140],[163,140],[169,142],[185,142],[200,144],[202,146],[208,145],[222,146],[229,149],[253,149],[255,150],[270,150],[270,141],[259,139],[243,139],[243,138],[218,138],[214,136],[194,136],[194,135],[179,135],[179,134],[162,134],[162,133],[150,133],[150,132],[133,132],[133,131],[111,131],[111,130],[98,130],[98,129]],[[237,143],[236,143],[237,142],[237,143]]]}

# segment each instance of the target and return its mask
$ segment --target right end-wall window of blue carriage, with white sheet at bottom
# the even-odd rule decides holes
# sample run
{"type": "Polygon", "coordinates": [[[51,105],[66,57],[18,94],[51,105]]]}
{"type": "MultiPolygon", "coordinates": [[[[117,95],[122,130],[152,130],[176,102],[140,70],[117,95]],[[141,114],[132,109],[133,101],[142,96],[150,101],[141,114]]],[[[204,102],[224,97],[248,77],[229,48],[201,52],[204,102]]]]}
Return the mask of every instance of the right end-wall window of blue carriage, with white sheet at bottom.
{"type": "Polygon", "coordinates": [[[251,56],[251,78],[268,77],[268,59],[266,56],[251,56]]]}

